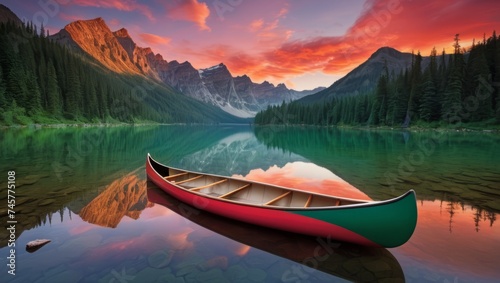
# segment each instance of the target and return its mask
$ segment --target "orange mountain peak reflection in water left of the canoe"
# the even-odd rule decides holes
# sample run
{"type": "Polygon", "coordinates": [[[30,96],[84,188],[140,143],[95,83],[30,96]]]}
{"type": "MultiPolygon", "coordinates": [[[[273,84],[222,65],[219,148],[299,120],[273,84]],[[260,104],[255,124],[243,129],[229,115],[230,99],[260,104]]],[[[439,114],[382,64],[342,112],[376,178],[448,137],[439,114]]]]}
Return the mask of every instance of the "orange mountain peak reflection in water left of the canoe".
{"type": "Polygon", "coordinates": [[[146,180],[132,172],[113,181],[79,215],[89,223],[115,228],[124,216],[138,219],[142,210],[152,205],[146,195],[146,180]]]}

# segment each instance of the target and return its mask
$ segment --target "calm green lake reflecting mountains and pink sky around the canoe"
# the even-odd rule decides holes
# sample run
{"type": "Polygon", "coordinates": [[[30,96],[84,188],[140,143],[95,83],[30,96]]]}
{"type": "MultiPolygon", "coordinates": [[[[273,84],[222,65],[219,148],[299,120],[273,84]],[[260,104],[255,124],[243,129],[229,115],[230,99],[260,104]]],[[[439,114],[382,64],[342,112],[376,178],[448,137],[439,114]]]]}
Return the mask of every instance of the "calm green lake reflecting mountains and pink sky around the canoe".
{"type": "Polygon", "coordinates": [[[2,282],[500,278],[498,134],[224,125],[23,128],[1,130],[0,145],[0,218],[6,228],[15,226],[13,236],[12,229],[0,234],[2,282]],[[148,152],[173,167],[327,194],[336,193],[329,181],[338,177],[352,185],[347,193],[374,200],[414,189],[417,228],[403,246],[380,249],[231,221],[147,182],[148,152]],[[7,191],[9,175],[15,193],[7,191]],[[8,211],[9,194],[15,214],[8,211]],[[51,242],[27,252],[26,243],[35,239],[51,242]],[[8,273],[12,254],[15,275],[8,273]]]}

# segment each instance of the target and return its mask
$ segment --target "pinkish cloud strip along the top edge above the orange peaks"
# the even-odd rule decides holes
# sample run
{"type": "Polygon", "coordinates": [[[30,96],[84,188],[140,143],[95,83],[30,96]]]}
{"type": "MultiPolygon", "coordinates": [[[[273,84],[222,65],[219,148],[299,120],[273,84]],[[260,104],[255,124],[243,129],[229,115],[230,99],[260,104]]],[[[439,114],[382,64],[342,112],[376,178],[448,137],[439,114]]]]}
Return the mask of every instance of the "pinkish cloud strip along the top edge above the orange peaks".
{"type": "Polygon", "coordinates": [[[139,11],[149,20],[154,21],[153,13],[148,6],[139,4],[135,0],[73,0],[70,3],[84,7],[100,7],[116,9],[120,11],[133,12],[139,11]]]}

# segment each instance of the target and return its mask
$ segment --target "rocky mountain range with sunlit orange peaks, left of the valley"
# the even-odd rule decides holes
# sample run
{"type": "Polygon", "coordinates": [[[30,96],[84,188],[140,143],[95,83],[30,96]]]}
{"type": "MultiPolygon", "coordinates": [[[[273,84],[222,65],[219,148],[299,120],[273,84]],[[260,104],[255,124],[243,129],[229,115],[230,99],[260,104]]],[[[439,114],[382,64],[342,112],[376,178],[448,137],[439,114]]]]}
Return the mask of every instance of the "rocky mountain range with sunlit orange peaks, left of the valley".
{"type": "Polygon", "coordinates": [[[268,105],[324,89],[296,91],[284,84],[254,83],[246,75],[233,77],[223,63],[197,70],[187,61],[167,61],[151,48],[138,46],[125,28],[111,31],[102,18],[72,22],[51,38],[85,52],[116,73],[146,76],[238,117],[253,117],[268,105]]]}

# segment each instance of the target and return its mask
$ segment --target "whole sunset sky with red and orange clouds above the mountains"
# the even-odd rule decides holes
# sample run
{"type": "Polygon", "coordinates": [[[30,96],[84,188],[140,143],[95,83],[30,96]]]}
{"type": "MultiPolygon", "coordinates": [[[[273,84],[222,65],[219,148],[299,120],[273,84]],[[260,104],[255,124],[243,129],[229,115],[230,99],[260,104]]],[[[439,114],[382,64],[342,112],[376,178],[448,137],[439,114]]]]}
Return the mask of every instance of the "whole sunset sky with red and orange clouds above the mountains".
{"type": "Polygon", "coordinates": [[[51,34],[102,17],[141,47],[233,76],[330,86],[384,46],[427,56],[500,31],[498,0],[0,0],[51,34]]]}

